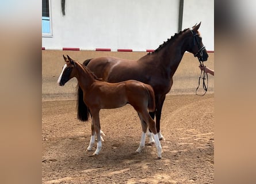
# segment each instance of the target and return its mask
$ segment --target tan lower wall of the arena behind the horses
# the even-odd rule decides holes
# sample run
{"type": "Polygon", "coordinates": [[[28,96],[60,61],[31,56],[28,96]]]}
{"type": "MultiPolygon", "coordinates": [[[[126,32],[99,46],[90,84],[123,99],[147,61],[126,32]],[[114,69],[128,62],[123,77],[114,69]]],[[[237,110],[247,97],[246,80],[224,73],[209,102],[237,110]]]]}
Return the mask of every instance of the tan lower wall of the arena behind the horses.
{"type": "MultiPolygon", "coordinates": [[[[139,59],[147,52],[98,52],[98,51],[42,51],[42,100],[76,99],[77,79],[71,79],[65,86],[59,86],[57,80],[64,65],[62,55],[69,55],[82,63],[92,57],[115,56],[124,59],[139,59]]],[[[214,53],[208,53],[205,65],[214,69],[214,53]]],[[[198,86],[198,60],[192,53],[185,53],[174,74],[174,84],[170,94],[194,94],[198,86]]],[[[214,76],[209,75],[208,92],[214,91],[214,76]]],[[[202,89],[202,87],[200,87],[202,89]]]]}

